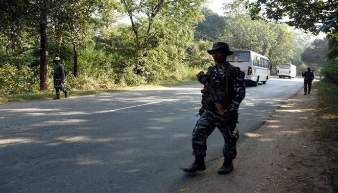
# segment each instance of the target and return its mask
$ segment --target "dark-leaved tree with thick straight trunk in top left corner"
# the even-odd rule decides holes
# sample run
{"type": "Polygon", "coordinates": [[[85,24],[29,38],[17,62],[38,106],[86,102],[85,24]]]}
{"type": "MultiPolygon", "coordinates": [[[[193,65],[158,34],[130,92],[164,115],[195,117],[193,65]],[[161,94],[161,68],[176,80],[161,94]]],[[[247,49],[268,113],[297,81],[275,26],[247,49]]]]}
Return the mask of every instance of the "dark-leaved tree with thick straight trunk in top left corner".
{"type": "Polygon", "coordinates": [[[2,0],[0,2],[1,33],[9,32],[7,38],[13,51],[20,54],[32,48],[24,48],[22,34],[40,35],[40,90],[48,88],[48,16],[53,7],[51,0],[2,0]],[[18,35],[18,36],[17,36],[18,35]],[[19,37],[19,38],[18,38],[19,37]],[[16,50],[19,48],[19,50],[16,50]]]}

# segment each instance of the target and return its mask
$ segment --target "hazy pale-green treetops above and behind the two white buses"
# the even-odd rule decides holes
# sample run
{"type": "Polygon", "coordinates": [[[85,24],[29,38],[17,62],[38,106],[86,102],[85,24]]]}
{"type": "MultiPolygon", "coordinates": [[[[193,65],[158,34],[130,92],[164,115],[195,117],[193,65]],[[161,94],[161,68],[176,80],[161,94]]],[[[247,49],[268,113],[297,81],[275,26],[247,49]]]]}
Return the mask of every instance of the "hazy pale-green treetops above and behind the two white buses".
{"type": "Polygon", "coordinates": [[[228,20],[220,39],[233,49],[249,49],[265,55],[276,72],[280,63],[289,63],[295,46],[295,36],[282,24],[252,21],[235,17],[228,20]]]}

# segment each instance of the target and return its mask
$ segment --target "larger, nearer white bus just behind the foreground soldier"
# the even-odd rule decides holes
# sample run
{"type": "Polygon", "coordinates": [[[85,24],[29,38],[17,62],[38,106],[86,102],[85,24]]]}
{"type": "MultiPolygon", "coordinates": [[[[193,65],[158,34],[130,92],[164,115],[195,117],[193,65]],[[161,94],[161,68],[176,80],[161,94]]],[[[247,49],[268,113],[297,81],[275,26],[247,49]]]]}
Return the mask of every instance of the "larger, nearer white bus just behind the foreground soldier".
{"type": "Polygon", "coordinates": [[[270,62],[267,57],[251,50],[231,51],[234,53],[228,56],[227,61],[245,72],[246,83],[253,86],[258,86],[259,82],[266,84],[270,77],[270,62]]]}

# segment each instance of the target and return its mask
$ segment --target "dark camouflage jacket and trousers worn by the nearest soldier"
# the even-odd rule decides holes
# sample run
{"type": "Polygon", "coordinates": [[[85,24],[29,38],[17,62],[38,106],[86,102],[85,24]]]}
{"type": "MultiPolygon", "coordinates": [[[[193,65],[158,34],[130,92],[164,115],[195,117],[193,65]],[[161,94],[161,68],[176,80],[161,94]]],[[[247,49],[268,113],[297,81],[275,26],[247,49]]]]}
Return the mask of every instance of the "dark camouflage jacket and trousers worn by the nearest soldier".
{"type": "Polygon", "coordinates": [[[221,100],[223,107],[227,107],[228,116],[222,118],[213,104],[208,101],[208,94],[202,95],[202,107],[205,109],[193,129],[193,155],[206,156],[206,139],[217,127],[224,138],[223,156],[234,159],[237,155],[236,142],[239,132],[236,129],[238,108],[245,97],[244,72],[228,62],[221,67],[209,67],[209,84],[211,84],[221,100]]]}

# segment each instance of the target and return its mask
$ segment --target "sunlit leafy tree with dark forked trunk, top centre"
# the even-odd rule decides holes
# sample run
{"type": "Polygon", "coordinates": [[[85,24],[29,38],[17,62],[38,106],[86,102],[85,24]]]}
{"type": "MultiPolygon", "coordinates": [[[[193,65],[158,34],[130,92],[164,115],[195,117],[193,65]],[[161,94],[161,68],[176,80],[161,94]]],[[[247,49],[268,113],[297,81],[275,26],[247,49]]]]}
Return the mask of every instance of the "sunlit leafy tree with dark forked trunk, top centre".
{"type": "Polygon", "coordinates": [[[123,35],[112,34],[110,38],[119,40],[113,48],[125,57],[121,68],[147,78],[165,75],[160,71],[177,70],[175,66],[183,62],[193,40],[194,25],[202,20],[204,1],[122,0],[131,25],[119,29],[123,33],[118,34],[123,35]]]}

